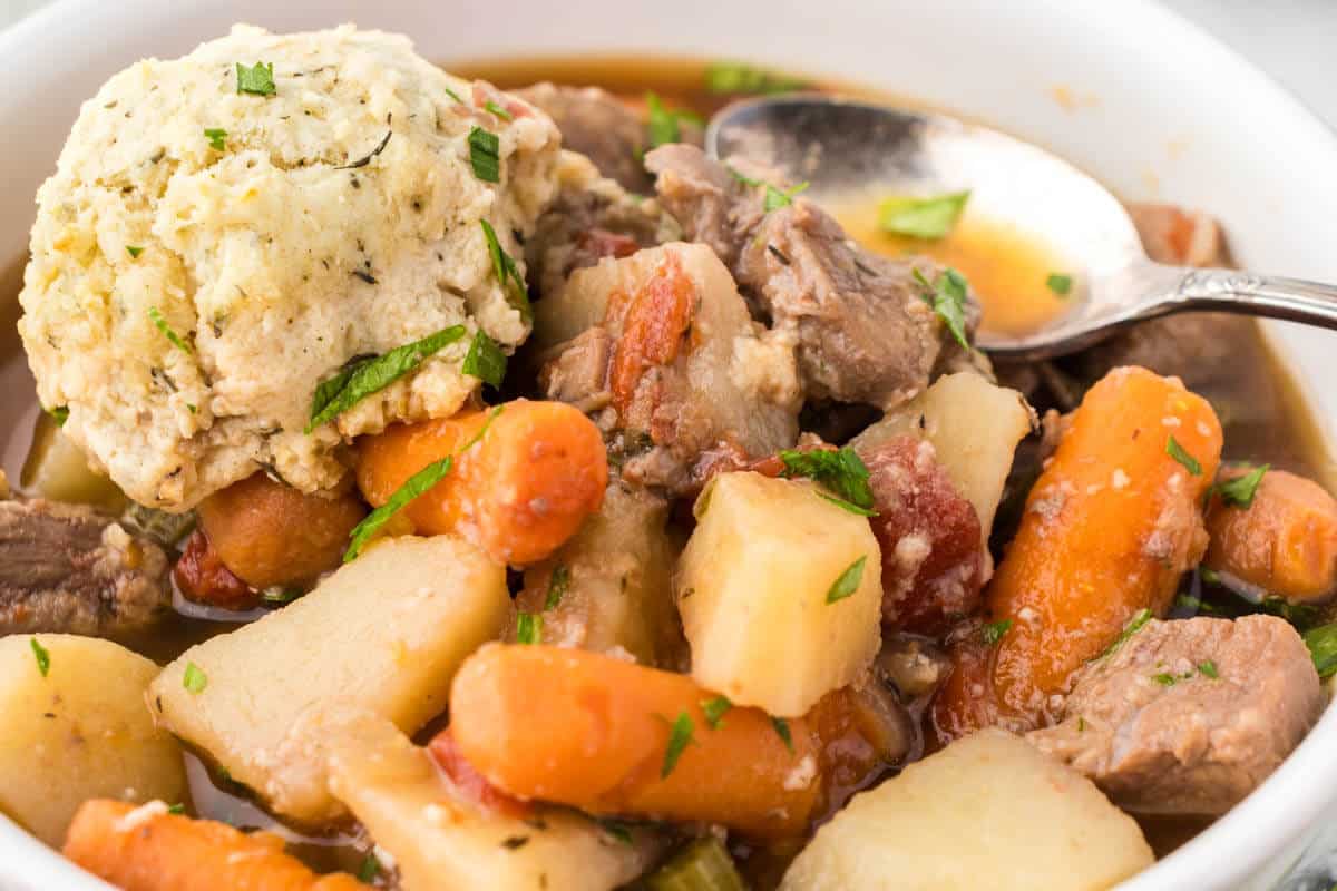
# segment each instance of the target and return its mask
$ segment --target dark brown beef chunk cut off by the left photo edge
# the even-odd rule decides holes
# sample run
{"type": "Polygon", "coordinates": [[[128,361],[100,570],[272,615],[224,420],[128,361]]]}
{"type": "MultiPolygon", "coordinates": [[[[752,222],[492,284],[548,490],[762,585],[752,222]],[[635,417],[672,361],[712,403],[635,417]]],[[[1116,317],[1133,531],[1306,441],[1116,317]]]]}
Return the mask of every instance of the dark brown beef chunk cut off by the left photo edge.
{"type": "Polygon", "coordinates": [[[158,545],[83,505],[0,501],[0,635],[115,637],[170,608],[158,545]]]}

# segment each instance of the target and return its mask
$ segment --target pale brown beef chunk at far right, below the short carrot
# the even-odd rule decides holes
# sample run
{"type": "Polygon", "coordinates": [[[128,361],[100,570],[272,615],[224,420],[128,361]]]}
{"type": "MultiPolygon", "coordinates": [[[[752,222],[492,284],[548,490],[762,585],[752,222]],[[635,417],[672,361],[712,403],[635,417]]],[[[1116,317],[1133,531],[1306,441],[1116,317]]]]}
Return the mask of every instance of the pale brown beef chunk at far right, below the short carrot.
{"type": "Polygon", "coordinates": [[[1076,677],[1027,739],[1127,811],[1225,814],[1318,720],[1309,651],[1273,616],[1151,621],[1076,677]]]}

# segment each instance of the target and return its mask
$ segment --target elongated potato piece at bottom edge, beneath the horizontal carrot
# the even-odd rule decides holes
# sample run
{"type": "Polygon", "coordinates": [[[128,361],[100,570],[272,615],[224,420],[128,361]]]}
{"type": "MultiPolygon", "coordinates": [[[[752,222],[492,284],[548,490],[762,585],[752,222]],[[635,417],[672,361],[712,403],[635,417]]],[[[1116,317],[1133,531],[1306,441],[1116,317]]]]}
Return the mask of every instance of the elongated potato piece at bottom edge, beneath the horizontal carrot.
{"type": "Polygon", "coordinates": [[[663,850],[658,834],[619,840],[576,811],[520,820],[461,796],[390,723],[344,715],[326,724],[330,785],[412,891],[610,891],[663,850]]]}

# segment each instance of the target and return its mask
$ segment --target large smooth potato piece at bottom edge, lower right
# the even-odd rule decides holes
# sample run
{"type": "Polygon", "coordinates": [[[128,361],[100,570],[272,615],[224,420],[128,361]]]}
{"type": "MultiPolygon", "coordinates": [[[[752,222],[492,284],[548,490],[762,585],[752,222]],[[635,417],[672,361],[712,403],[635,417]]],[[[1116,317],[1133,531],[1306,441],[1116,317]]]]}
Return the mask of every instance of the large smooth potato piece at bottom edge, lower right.
{"type": "Polygon", "coordinates": [[[781,891],[1095,891],[1152,862],[1091,780],[987,729],[856,795],[781,891]]]}

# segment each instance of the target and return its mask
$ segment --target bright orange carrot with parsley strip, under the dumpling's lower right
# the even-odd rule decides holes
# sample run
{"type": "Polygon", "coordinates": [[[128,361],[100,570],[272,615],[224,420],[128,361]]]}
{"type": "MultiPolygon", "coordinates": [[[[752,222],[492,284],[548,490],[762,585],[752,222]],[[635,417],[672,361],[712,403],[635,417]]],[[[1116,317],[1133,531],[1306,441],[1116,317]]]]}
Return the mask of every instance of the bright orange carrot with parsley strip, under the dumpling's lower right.
{"type": "Polygon", "coordinates": [[[380,506],[447,456],[456,456],[451,473],[404,514],[417,532],[461,534],[497,562],[550,556],[599,509],[608,484],[594,422],[570,405],[527,399],[365,437],[357,484],[380,506]]]}

